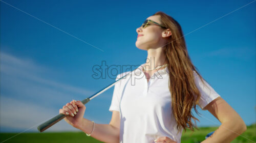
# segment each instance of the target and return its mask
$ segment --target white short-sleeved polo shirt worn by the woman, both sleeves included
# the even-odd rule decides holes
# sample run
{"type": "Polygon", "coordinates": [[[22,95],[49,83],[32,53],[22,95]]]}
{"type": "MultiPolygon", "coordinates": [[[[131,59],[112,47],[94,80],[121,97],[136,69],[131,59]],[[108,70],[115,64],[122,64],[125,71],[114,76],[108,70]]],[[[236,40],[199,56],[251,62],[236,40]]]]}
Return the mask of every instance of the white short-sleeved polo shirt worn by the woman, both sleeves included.
{"type": "MultiPolygon", "coordinates": [[[[109,110],[120,113],[120,142],[148,143],[167,136],[180,143],[182,132],[178,133],[172,112],[168,68],[154,73],[147,82],[142,71],[143,65],[121,79],[114,87],[109,110]]],[[[130,72],[119,74],[116,80],[128,73],[130,72]]],[[[198,105],[203,109],[220,95],[204,81],[205,86],[196,72],[194,73],[197,87],[202,94],[198,105]]]]}

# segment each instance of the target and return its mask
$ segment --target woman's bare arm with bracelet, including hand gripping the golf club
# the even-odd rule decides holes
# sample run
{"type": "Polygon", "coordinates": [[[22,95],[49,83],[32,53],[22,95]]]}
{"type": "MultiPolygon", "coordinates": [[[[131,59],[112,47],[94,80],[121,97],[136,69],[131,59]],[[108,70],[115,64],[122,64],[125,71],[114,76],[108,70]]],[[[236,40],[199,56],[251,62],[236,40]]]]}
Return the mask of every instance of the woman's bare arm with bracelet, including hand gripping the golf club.
{"type": "Polygon", "coordinates": [[[92,121],[83,118],[85,111],[86,106],[81,101],[75,100],[59,109],[59,113],[69,115],[64,120],[73,127],[82,130],[84,133],[91,134],[92,137],[103,142],[119,142],[119,111],[113,111],[110,124],[93,124],[92,121]]]}

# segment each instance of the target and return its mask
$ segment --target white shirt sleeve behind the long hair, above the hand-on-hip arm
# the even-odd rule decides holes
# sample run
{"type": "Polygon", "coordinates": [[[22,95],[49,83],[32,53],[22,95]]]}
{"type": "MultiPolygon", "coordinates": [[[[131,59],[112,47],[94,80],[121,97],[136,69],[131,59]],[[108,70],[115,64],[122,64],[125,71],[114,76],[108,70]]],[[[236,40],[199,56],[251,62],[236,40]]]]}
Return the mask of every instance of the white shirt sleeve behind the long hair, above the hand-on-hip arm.
{"type": "Polygon", "coordinates": [[[202,110],[205,110],[204,107],[208,105],[212,100],[215,100],[217,97],[220,97],[220,95],[204,79],[203,83],[196,73],[194,75],[197,88],[201,93],[198,105],[202,110]]]}

